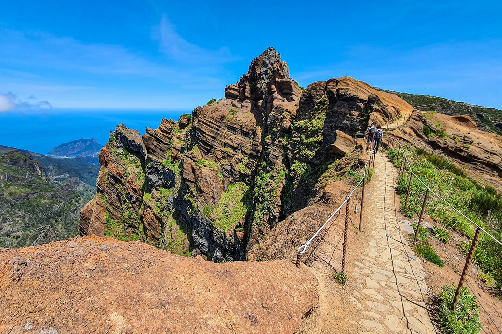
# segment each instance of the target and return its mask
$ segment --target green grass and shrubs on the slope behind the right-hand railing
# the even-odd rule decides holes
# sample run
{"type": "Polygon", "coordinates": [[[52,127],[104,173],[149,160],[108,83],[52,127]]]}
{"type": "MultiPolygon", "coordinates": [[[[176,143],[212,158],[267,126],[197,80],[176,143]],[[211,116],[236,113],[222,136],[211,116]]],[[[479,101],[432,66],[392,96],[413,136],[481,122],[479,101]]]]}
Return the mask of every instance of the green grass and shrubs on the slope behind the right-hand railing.
{"type": "MultiPolygon", "coordinates": [[[[476,181],[467,177],[463,169],[455,166],[446,157],[427,153],[420,148],[412,151],[410,147],[407,147],[406,152],[412,162],[414,173],[428,184],[432,190],[440,194],[471,220],[490,230],[490,233],[497,239],[502,239],[502,196],[495,189],[482,187],[476,181]]],[[[390,150],[389,157],[399,166],[401,159],[396,159],[397,149],[390,150]]],[[[409,174],[406,172],[404,177],[398,179],[397,191],[401,195],[403,203],[401,210],[407,216],[413,217],[420,213],[426,188],[416,178],[413,178],[408,206],[404,207],[408,182],[409,174]]],[[[425,213],[444,227],[455,230],[467,238],[472,238],[474,234],[474,228],[470,222],[432,194],[429,195],[425,213]]],[[[436,233],[438,233],[438,230],[436,230],[436,233]]],[[[442,236],[438,236],[438,240],[446,238],[443,232],[440,232],[440,234],[442,236]]],[[[459,246],[461,252],[463,251],[464,255],[466,255],[470,242],[460,243],[459,246]]],[[[497,286],[502,286],[502,258],[500,257],[500,251],[500,245],[485,233],[481,233],[473,257],[473,262],[484,273],[490,274],[495,279],[497,286]]]]}

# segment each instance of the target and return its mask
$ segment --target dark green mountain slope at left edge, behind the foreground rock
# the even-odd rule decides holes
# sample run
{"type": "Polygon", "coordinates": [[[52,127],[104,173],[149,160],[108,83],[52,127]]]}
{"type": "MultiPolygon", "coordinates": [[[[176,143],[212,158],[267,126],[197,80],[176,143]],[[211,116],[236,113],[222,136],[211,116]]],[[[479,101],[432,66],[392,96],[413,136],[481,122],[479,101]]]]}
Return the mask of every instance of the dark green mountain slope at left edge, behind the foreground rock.
{"type": "Polygon", "coordinates": [[[93,195],[77,178],[52,181],[18,150],[0,154],[0,247],[38,245],[77,233],[79,210],[93,195]]]}

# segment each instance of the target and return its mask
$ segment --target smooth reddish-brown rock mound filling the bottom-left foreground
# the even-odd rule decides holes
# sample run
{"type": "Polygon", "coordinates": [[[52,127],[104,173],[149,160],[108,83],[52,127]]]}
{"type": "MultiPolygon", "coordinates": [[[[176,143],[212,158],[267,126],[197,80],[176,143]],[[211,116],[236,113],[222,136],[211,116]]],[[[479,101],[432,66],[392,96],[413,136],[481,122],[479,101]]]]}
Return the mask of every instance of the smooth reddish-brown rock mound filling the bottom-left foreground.
{"type": "Polygon", "coordinates": [[[75,238],[0,249],[0,332],[294,333],[316,287],[290,261],[217,264],[75,238]]]}

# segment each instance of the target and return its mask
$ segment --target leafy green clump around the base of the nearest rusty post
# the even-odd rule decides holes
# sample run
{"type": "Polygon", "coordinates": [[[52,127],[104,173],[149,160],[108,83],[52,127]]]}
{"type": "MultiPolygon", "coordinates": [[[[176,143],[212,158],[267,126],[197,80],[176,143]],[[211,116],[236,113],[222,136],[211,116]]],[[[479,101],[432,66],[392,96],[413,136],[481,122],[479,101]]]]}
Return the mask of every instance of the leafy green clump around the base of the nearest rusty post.
{"type": "Polygon", "coordinates": [[[457,307],[451,310],[456,286],[444,285],[439,294],[439,309],[436,317],[445,334],[476,334],[483,324],[479,320],[479,304],[465,286],[460,290],[457,307]]]}

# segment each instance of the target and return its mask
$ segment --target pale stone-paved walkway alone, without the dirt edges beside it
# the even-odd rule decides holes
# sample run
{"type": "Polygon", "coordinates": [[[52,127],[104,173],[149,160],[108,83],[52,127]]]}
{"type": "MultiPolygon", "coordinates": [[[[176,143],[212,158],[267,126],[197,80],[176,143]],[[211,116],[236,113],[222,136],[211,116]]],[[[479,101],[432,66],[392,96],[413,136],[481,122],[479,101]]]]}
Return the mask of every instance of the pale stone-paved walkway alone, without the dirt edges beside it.
{"type": "Polygon", "coordinates": [[[349,300],[360,310],[352,318],[359,325],[354,332],[436,333],[424,302],[425,272],[405,238],[410,222],[396,210],[396,174],[387,156],[378,153],[365,195],[367,242],[349,269],[354,287],[349,300]]]}

